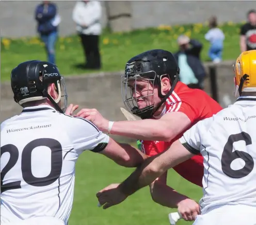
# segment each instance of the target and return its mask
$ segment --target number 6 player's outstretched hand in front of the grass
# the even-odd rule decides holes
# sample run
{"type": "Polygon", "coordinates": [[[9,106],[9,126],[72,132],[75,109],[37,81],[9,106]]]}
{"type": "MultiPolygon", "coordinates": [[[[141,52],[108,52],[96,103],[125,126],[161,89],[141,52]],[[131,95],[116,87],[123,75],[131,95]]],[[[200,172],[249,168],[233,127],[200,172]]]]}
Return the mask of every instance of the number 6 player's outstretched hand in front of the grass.
{"type": "Polygon", "coordinates": [[[99,203],[103,205],[104,210],[113,205],[121,203],[127,198],[127,196],[121,192],[119,184],[108,185],[107,187],[99,191],[96,196],[99,203]]]}

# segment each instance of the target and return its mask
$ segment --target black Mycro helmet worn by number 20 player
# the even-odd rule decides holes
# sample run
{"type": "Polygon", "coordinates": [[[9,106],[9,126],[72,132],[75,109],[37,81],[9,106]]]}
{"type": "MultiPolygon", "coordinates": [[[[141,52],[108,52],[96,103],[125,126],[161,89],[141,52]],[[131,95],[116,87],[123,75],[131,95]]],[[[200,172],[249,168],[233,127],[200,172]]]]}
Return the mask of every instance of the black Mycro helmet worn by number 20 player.
{"type": "Polygon", "coordinates": [[[20,63],[11,71],[11,89],[14,101],[21,106],[29,101],[48,98],[59,112],[63,113],[67,108],[68,95],[65,81],[53,63],[40,60],[20,63]],[[51,83],[55,84],[59,94],[56,100],[47,92],[47,87],[51,83]],[[63,93],[62,96],[61,92],[63,93]],[[62,109],[58,106],[61,97],[64,97],[62,109]]]}

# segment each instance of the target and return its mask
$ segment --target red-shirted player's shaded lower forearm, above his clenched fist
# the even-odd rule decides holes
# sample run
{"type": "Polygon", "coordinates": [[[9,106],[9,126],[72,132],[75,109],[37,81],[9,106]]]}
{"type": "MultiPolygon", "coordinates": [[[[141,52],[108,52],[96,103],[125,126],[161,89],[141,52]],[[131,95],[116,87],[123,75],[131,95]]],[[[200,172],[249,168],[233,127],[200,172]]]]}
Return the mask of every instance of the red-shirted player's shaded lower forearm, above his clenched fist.
{"type": "Polygon", "coordinates": [[[178,203],[188,198],[159,181],[150,185],[150,193],[154,202],[169,208],[178,208],[178,203]]]}

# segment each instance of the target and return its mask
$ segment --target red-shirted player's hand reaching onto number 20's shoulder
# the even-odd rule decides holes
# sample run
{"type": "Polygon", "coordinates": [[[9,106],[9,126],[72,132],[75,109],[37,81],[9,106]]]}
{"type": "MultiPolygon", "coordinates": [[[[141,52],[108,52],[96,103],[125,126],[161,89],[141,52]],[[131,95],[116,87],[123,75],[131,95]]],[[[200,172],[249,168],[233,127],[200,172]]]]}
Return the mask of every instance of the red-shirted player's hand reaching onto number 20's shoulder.
{"type": "Polygon", "coordinates": [[[105,119],[97,109],[81,109],[75,116],[83,117],[95,124],[99,130],[107,132],[109,120],[105,119]]]}

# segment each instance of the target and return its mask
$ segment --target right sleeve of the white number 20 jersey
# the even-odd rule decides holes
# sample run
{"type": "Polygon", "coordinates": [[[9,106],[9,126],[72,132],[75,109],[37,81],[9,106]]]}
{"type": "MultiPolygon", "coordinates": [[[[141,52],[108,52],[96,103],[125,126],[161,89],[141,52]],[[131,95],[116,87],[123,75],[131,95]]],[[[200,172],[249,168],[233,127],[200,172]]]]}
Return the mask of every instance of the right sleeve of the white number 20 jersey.
{"type": "Polygon", "coordinates": [[[77,153],[84,150],[100,152],[109,142],[109,136],[102,133],[94,124],[81,117],[73,117],[71,142],[77,153]]]}

